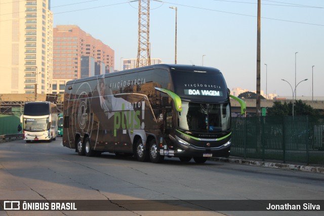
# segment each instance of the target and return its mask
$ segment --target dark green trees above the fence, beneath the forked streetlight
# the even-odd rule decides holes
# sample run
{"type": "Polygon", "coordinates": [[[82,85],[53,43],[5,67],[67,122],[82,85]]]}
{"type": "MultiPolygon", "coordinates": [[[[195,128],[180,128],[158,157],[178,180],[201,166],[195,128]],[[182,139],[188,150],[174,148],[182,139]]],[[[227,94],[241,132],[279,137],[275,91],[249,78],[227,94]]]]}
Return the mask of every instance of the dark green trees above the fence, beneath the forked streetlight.
{"type": "MultiPolygon", "coordinates": [[[[293,103],[281,104],[281,101],[275,101],[273,106],[267,109],[267,115],[293,115],[293,103]]],[[[318,110],[298,100],[294,106],[294,115],[318,115],[318,110]]]]}

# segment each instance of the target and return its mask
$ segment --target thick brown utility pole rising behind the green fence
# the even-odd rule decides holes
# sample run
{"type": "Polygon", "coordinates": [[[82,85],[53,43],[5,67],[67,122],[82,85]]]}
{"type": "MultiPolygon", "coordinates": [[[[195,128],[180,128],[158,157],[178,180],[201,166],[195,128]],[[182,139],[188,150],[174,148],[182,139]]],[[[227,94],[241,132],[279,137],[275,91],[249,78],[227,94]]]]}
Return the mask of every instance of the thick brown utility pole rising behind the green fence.
{"type": "Polygon", "coordinates": [[[261,62],[261,45],[260,45],[260,37],[261,37],[261,0],[258,0],[258,23],[257,23],[257,104],[256,104],[256,113],[257,116],[261,116],[261,101],[260,101],[260,94],[261,94],[261,87],[260,87],[260,80],[261,80],[261,73],[260,73],[260,62],[261,62]]]}

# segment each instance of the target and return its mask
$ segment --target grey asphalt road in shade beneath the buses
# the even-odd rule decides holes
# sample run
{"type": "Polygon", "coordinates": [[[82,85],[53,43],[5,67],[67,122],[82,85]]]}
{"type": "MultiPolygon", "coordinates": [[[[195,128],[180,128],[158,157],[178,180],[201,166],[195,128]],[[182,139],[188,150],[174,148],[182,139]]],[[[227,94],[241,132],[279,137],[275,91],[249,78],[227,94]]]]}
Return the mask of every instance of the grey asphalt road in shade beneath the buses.
{"type": "MultiPolygon", "coordinates": [[[[226,162],[164,163],[104,153],[78,156],[61,145],[0,144],[0,200],[321,200],[321,211],[0,211],[0,215],[322,215],[324,175],[226,162]]],[[[233,206],[235,201],[231,201],[233,206]]],[[[217,203],[217,202],[216,202],[217,203]]],[[[170,206],[169,206],[170,207],[170,206]]],[[[167,205],[168,208],[168,205],[167,205]]],[[[253,207],[252,207],[253,209],[253,207]]],[[[206,209],[205,209],[206,210],[206,209]]]]}

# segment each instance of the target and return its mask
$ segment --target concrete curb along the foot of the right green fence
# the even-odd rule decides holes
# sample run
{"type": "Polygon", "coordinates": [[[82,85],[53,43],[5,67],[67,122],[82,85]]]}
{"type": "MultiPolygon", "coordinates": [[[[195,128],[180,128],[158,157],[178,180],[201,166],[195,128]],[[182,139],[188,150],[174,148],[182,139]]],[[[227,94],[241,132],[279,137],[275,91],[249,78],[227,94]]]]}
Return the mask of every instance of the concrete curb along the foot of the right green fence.
{"type": "Polygon", "coordinates": [[[253,161],[253,160],[246,160],[246,159],[223,158],[223,157],[212,157],[210,158],[210,160],[246,164],[246,165],[253,165],[253,166],[265,166],[265,167],[280,168],[280,169],[292,169],[292,170],[299,170],[299,171],[324,173],[324,167],[320,167],[320,166],[304,166],[304,165],[294,165],[294,164],[287,164],[287,163],[253,161]]]}

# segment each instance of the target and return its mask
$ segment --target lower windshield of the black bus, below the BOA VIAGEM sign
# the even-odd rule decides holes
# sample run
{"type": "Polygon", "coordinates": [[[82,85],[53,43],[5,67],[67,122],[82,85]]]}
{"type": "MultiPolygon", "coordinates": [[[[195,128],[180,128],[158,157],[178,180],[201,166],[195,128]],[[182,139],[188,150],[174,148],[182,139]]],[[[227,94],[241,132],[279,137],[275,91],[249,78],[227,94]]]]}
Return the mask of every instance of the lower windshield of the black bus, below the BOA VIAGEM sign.
{"type": "Polygon", "coordinates": [[[182,101],[179,127],[186,131],[215,133],[230,129],[230,105],[182,101]]]}

